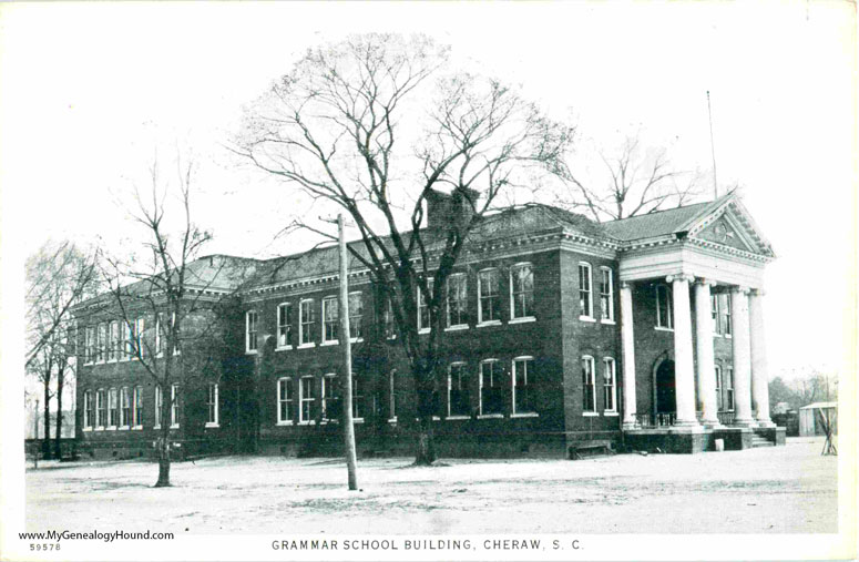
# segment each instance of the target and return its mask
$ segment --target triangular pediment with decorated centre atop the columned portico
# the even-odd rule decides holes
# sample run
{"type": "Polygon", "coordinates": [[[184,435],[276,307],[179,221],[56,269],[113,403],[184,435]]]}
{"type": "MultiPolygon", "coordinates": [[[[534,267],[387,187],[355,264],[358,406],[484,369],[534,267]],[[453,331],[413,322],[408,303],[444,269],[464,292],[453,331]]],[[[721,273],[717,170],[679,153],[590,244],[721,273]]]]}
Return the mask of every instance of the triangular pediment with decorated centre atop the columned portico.
{"type": "Polygon", "coordinates": [[[720,203],[691,222],[688,237],[708,245],[774,257],[771,246],[739,198],[732,193],[720,203]]]}

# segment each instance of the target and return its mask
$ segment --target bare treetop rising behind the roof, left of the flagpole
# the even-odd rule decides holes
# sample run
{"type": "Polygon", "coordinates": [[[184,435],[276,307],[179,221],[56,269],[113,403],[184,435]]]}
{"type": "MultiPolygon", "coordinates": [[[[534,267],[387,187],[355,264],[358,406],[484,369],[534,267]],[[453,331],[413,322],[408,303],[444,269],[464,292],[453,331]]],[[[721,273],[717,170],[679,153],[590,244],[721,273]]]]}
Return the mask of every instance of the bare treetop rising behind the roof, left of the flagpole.
{"type": "Polygon", "coordinates": [[[644,149],[638,134],[614,153],[597,151],[597,157],[603,177],[582,177],[572,155],[555,170],[565,186],[561,203],[596,222],[678,207],[702,195],[699,171],[677,170],[666,149],[644,149]]]}

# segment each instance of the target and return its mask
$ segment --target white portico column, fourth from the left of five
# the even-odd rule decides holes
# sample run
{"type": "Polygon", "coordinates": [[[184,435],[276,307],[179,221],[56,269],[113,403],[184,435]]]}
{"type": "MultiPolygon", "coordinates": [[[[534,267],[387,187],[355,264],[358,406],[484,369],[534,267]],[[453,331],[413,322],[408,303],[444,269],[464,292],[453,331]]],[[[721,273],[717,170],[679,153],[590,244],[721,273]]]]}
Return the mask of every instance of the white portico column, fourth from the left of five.
{"type": "Polygon", "coordinates": [[[730,289],[734,347],[734,425],[754,426],[751,419],[751,349],[748,329],[748,288],[730,289]]]}

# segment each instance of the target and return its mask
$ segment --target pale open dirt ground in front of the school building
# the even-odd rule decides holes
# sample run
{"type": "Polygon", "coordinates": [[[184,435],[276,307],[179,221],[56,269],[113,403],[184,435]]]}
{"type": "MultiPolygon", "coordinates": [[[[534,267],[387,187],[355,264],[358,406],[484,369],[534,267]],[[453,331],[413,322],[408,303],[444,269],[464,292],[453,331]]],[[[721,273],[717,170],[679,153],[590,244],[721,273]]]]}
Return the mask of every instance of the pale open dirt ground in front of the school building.
{"type": "Polygon", "coordinates": [[[175,463],[40,464],[27,529],[182,533],[837,532],[837,467],[820,439],[695,456],[581,461],[359,461],[360,492],[331,459],[227,457],[175,463]]]}

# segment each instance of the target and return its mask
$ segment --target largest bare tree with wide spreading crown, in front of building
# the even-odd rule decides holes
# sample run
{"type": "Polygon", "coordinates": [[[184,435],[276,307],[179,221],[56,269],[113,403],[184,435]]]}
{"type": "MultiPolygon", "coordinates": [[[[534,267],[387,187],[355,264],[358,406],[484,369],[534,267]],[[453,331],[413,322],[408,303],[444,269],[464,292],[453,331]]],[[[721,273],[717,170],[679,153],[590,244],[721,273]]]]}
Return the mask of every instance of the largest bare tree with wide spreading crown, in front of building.
{"type": "MultiPolygon", "coordinates": [[[[447,279],[499,194],[553,167],[572,136],[501,82],[447,72],[447,55],[422,35],[356,35],[311,49],[248,109],[234,149],[355,223],[360,242],[350,253],[390,304],[413,377],[420,464],[436,458],[447,279]],[[425,204],[439,197],[448,221],[423,228],[425,204]]],[[[336,239],[326,226],[300,226],[336,239]]]]}

